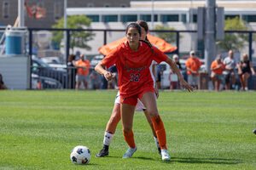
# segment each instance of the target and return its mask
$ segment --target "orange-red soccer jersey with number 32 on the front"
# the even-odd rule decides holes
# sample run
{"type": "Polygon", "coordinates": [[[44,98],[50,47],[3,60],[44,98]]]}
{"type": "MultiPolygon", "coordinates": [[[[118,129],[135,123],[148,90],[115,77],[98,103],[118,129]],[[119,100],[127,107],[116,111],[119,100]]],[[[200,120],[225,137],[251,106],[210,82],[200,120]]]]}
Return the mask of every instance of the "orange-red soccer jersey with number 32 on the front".
{"type": "Polygon", "coordinates": [[[149,66],[152,60],[160,63],[168,58],[158,48],[151,48],[145,42],[139,42],[137,51],[132,51],[128,42],[121,43],[110,54],[102,59],[102,64],[107,67],[116,65],[119,72],[119,92],[127,98],[143,92],[145,88],[154,90],[154,82],[149,66]]]}

